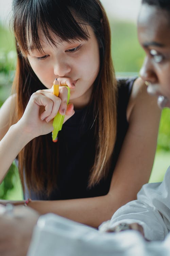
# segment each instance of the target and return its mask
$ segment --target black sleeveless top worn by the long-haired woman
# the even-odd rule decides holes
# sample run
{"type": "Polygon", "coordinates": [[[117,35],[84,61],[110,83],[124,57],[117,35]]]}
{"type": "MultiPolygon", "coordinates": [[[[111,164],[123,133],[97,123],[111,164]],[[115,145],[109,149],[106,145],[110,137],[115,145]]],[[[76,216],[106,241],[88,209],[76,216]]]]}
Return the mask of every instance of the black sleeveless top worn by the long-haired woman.
{"type": "Polygon", "coordinates": [[[117,101],[117,139],[113,152],[112,164],[108,176],[99,184],[87,188],[89,171],[94,163],[96,141],[94,117],[86,113],[86,108],[75,111],[58,134],[59,144],[59,176],[57,189],[47,197],[43,193],[28,192],[25,184],[24,198],[32,200],[63,200],[75,198],[88,198],[106,195],[109,191],[114,168],[121,150],[121,146],[128,129],[126,109],[136,78],[118,80],[117,101]],[[86,119],[84,122],[84,115],[86,119]]]}

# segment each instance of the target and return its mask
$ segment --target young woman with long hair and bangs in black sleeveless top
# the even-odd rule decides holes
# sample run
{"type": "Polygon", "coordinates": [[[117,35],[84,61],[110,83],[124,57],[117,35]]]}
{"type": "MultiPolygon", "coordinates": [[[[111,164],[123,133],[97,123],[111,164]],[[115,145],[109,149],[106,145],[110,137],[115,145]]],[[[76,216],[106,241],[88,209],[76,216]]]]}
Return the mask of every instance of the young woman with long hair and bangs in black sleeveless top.
{"type": "MultiPolygon", "coordinates": [[[[156,101],[140,79],[116,81],[100,1],[14,0],[13,28],[14,94],[0,110],[0,136],[16,144],[24,198],[31,197],[29,206],[40,214],[98,227],[149,180],[156,101]],[[55,78],[59,97],[52,94],[55,78]],[[70,87],[68,106],[63,85],[70,87]],[[67,122],[54,143],[58,111],[67,122]]],[[[10,164],[3,161],[1,180],[10,164]]]]}

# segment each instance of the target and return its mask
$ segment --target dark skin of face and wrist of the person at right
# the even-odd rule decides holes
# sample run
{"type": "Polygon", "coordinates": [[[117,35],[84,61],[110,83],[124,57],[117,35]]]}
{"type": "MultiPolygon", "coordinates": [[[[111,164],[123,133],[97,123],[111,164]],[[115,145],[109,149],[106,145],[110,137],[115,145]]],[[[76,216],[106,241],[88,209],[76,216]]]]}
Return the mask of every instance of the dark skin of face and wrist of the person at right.
{"type": "MultiPolygon", "coordinates": [[[[149,82],[148,93],[165,96],[165,106],[170,108],[170,12],[143,4],[138,17],[138,39],[146,52],[141,78],[149,82]]],[[[129,229],[138,230],[145,237],[139,224],[132,223],[129,229]]]]}

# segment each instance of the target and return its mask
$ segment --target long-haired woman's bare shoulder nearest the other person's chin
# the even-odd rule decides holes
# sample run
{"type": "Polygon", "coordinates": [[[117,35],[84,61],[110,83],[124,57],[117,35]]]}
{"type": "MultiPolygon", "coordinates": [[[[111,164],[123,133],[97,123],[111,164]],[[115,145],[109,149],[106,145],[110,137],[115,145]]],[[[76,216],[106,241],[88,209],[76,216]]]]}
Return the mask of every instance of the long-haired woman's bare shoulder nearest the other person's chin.
{"type": "Polygon", "coordinates": [[[154,114],[160,118],[160,109],[157,106],[157,97],[147,93],[147,86],[139,77],[135,80],[127,109],[127,119],[136,114],[147,116],[154,114]]]}

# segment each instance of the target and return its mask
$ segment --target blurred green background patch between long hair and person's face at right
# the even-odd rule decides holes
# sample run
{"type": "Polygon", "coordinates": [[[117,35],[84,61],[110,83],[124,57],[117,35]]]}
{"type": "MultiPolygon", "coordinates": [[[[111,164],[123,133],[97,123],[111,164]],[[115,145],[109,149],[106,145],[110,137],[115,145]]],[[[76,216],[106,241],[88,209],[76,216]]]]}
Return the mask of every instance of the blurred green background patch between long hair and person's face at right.
{"type": "Polygon", "coordinates": [[[116,72],[138,73],[145,56],[137,39],[135,24],[128,22],[111,22],[112,57],[116,72]]]}

